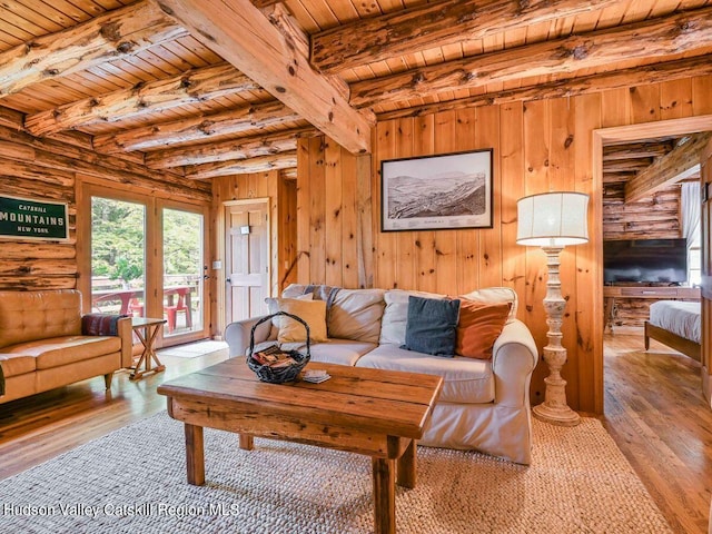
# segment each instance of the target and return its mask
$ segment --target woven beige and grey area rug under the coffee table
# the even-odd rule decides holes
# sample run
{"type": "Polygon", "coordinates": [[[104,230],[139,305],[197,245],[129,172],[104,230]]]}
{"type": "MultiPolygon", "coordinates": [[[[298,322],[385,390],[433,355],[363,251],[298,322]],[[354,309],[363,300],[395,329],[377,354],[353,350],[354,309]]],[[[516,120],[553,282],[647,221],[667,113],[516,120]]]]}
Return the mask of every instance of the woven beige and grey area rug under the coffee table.
{"type": "MultiPolygon", "coordinates": [[[[596,419],[534,421],[534,463],[418,448],[398,533],[670,533],[596,419]]],[[[182,424],[164,412],[0,481],[17,533],[368,533],[370,458],[206,429],[206,485],[186,482],[182,424]]]]}

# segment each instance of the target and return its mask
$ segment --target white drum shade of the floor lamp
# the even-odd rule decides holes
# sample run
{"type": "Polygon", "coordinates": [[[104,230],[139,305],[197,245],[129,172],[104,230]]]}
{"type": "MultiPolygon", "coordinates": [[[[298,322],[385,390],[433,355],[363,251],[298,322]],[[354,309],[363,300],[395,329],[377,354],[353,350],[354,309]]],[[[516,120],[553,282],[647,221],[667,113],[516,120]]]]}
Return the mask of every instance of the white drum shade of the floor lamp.
{"type": "Polygon", "coordinates": [[[563,247],[589,241],[589,195],[543,192],[517,200],[516,243],[563,247]]]}

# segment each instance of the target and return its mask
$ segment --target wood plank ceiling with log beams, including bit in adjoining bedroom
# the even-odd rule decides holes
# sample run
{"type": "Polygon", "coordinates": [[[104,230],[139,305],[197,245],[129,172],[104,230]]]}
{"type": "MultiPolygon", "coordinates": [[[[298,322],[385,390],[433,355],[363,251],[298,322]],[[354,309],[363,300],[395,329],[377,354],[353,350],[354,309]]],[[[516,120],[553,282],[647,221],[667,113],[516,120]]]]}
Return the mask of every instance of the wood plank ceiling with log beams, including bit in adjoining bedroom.
{"type": "MultiPolygon", "coordinates": [[[[7,0],[0,122],[187,179],[376,120],[712,73],[712,0],[7,0]]],[[[679,139],[606,148],[626,186],[679,139]]],[[[633,191],[633,192],[631,192],[633,191]]]]}

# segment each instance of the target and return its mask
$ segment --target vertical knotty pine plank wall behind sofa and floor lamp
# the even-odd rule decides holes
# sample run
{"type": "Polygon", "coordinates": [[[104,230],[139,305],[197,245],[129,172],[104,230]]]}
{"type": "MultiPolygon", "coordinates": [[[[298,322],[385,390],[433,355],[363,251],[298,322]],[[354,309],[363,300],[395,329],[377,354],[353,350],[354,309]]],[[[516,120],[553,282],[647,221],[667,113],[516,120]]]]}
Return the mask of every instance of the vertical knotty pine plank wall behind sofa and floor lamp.
{"type": "MultiPolygon", "coordinates": [[[[547,190],[573,189],[592,196],[591,240],[562,254],[562,289],[567,299],[563,324],[568,362],[568,402],[575,409],[601,412],[603,354],[602,191],[593,180],[593,132],[625,126],[712,113],[712,78],[611,90],[574,98],[507,103],[415,118],[383,121],[374,130],[369,189],[344,169],[362,162],[328,139],[299,141],[298,255],[299,280],[346,287],[399,287],[461,294],[477,287],[505,285],[520,296],[518,316],[532,329],[537,346],[546,344],[542,300],[546,288],[544,254],[515,244],[516,200],[547,190]],[[383,159],[494,148],[494,228],[418,233],[379,231],[379,177],[383,159]],[[308,159],[305,159],[308,155],[308,159]],[[349,181],[350,180],[350,181],[349,181]],[[340,202],[332,197],[338,191],[340,202]],[[370,212],[365,208],[370,198],[370,212]],[[360,235],[346,248],[334,246],[342,210],[358,207],[360,235]],[[363,210],[362,210],[363,208],[363,210]],[[335,214],[338,217],[335,218],[335,214]],[[309,236],[308,239],[305,236],[309,236]],[[354,250],[373,250],[373,273],[358,264],[354,250]],[[348,266],[348,267],[347,267],[348,266]]],[[[363,162],[362,162],[363,165],[363,162]]],[[[357,219],[358,220],[358,219],[357,219]]],[[[348,243],[348,241],[346,241],[348,243]]],[[[540,364],[532,384],[533,402],[543,400],[540,364]]]]}

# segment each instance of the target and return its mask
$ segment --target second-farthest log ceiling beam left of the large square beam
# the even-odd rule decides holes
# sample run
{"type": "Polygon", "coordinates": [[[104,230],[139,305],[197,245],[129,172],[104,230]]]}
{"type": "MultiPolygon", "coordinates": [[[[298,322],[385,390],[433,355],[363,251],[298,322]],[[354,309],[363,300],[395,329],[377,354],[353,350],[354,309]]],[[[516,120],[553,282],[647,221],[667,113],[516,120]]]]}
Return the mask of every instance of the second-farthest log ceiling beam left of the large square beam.
{"type": "Polygon", "coordinates": [[[298,138],[317,134],[318,130],[312,126],[293,128],[255,137],[214,141],[186,148],[156,150],[148,152],[145,160],[146,165],[151,169],[167,169],[212,161],[228,161],[230,159],[248,159],[296,150],[298,138]]]}

